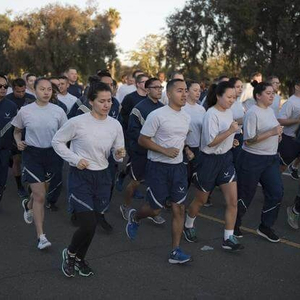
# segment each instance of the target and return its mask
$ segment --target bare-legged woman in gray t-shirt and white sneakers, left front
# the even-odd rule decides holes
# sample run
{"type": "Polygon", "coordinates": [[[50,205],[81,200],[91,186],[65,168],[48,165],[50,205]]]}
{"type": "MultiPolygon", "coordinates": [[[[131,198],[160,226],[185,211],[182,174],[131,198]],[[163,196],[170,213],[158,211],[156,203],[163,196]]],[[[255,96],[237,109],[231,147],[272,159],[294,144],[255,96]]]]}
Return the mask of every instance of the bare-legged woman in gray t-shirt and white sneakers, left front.
{"type": "Polygon", "coordinates": [[[34,220],[37,247],[42,250],[51,246],[43,230],[46,187],[56,176],[60,166],[60,159],[51,148],[51,141],[67,117],[60,107],[49,103],[52,86],[48,79],[37,79],[34,88],[36,101],[22,107],[12,125],[15,126],[14,138],[18,149],[23,151],[23,180],[29,183],[32,191],[31,199],[24,199],[22,202],[24,220],[28,224],[34,220]],[[25,129],[24,141],[22,131],[25,129]]]}

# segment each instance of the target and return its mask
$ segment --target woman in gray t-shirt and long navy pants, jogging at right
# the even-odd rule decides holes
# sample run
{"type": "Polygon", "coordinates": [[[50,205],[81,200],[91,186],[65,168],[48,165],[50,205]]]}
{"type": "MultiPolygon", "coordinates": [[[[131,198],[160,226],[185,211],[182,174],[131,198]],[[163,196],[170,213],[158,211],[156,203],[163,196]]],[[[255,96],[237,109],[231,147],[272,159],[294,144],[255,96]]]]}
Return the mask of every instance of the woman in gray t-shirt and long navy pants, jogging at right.
{"type": "Polygon", "coordinates": [[[263,188],[265,202],[261,214],[261,224],[257,233],[270,242],[280,241],[274,225],[283,197],[280,174],[280,160],[277,154],[282,128],[270,107],[274,99],[271,84],[261,82],[254,87],[253,97],[257,104],[251,107],[244,120],[243,150],[237,160],[238,214],[234,234],[242,237],[240,226],[242,217],[255,195],[257,184],[263,188]]]}

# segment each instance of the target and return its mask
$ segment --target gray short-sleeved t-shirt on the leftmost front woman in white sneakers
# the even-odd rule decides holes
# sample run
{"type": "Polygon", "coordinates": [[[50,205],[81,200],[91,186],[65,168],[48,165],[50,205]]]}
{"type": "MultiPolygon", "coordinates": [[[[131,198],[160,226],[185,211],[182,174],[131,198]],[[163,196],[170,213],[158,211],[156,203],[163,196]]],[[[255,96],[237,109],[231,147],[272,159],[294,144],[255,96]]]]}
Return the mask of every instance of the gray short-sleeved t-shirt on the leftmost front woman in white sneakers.
{"type": "Polygon", "coordinates": [[[11,123],[17,128],[26,129],[25,142],[28,146],[50,148],[54,134],[67,120],[59,106],[52,103],[39,106],[33,102],[21,107],[11,123]]]}

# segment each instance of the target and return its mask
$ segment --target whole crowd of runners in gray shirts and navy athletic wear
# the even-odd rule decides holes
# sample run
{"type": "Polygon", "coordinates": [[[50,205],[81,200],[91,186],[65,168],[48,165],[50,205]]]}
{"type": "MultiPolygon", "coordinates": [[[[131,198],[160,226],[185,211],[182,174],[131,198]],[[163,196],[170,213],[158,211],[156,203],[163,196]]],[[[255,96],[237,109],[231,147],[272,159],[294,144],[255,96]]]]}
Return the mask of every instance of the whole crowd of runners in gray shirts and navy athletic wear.
{"type": "MultiPolygon", "coordinates": [[[[44,209],[57,211],[68,163],[68,207],[77,229],[62,251],[65,276],[94,274],[85,256],[97,224],[112,230],[105,215],[114,189],[124,191],[120,216],[131,240],[142,219],[163,224],[162,209],[172,211],[171,264],[191,261],[181,237],[197,242],[196,217],[211,205],[217,186],[226,201],[224,250],[244,249],[242,219],[258,185],[264,205],[257,233],[280,241],[273,226],[283,198],[282,172],[288,168],[299,179],[300,77],[283,105],[277,76],[263,81],[254,73],[244,88],[240,78],[225,75],[212,84],[178,71],[165,79],[164,72],[151,77],[136,70],[118,86],[107,70],[99,70],[83,88],[74,68],[58,77],[27,73],[11,82],[0,74],[0,201],[11,168],[37,247],[50,247],[44,209]],[[186,207],[191,185],[195,195],[186,207]],[[132,208],[133,199],[141,198],[144,204],[132,208]]],[[[299,214],[300,185],[287,208],[294,229],[299,214]]]]}

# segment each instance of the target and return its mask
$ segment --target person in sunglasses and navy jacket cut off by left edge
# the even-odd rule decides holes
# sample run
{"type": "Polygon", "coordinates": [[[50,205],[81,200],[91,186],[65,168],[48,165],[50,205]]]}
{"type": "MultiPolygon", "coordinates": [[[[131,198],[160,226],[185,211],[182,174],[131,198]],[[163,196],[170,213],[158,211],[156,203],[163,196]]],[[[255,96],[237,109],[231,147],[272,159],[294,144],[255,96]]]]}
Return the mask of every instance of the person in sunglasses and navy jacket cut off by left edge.
{"type": "Polygon", "coordinates": [[[7,79],[0,75],[0,201],[6,186],[10,150],[13,146],[11,121],[18,110],[17,105],[5,97],[7,89],[7,79]]]}

